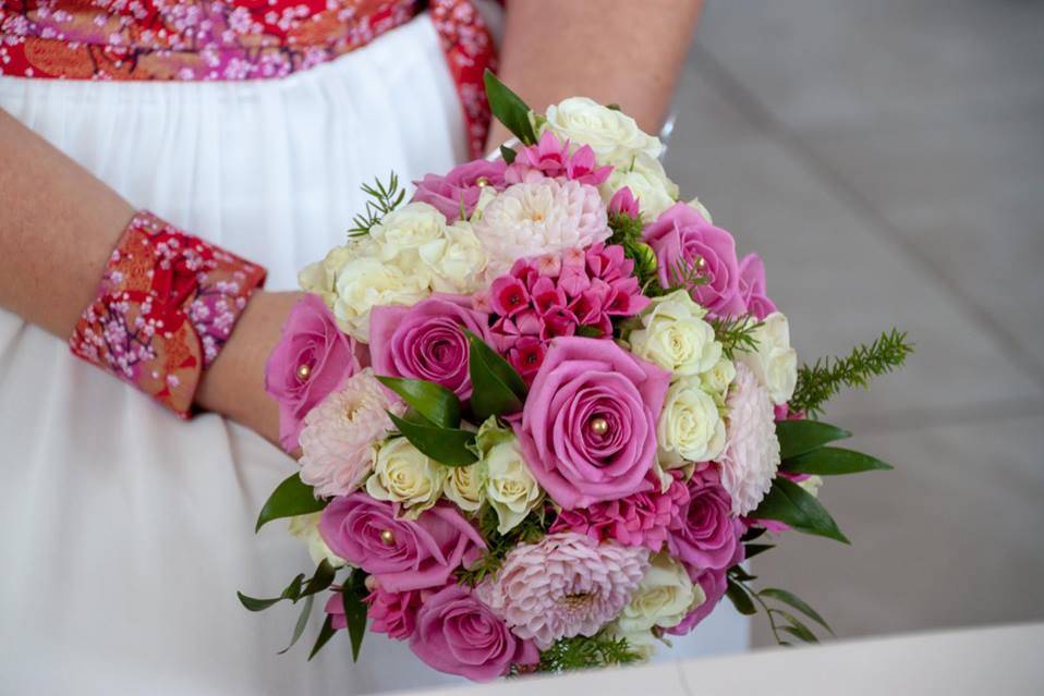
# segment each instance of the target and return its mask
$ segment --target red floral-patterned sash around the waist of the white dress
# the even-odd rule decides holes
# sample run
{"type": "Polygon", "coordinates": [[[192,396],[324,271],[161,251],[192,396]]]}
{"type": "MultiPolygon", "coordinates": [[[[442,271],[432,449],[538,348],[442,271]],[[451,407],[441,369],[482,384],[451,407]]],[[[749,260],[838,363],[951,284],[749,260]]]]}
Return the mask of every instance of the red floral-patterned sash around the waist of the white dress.
{"type": "Polygon", "coordinates": [[[0,0],[0,74],[70,80],[281,77],[365,46],[428,7],[472,155],[489,125],[489,32],[470,0],[0,0]]]}

